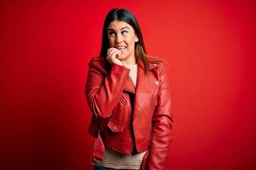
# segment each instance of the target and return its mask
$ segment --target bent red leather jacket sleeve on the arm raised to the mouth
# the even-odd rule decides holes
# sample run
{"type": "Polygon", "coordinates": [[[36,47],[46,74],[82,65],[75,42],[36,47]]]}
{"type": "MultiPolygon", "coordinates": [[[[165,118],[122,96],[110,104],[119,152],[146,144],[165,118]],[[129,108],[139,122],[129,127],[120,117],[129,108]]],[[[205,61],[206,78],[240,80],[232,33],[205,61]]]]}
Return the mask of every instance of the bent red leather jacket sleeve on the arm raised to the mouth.
{"type": "Polygon", "coordinates": [[[89,63],[85,95],[88,106],[97,117],[107,118],[119,102],[129,69],[112,64],[110,74],[102,67],[107,61],[92,59],[89,63]]]}

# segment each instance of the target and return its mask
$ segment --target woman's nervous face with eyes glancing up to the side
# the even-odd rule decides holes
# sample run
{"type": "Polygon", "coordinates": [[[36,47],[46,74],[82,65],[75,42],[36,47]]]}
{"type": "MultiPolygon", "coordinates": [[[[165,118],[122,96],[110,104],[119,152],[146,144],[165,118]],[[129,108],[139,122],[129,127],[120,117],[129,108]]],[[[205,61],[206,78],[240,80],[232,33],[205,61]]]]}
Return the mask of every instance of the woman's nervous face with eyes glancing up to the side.
{"type": "Polygon", "coordinates": [[[110,47],[117,48],[122,55],[118,58],[127,64],[134,64],[135,42],[139,41],[132,26],[124,21],[112,21],[107,28],[110,47]]]}

